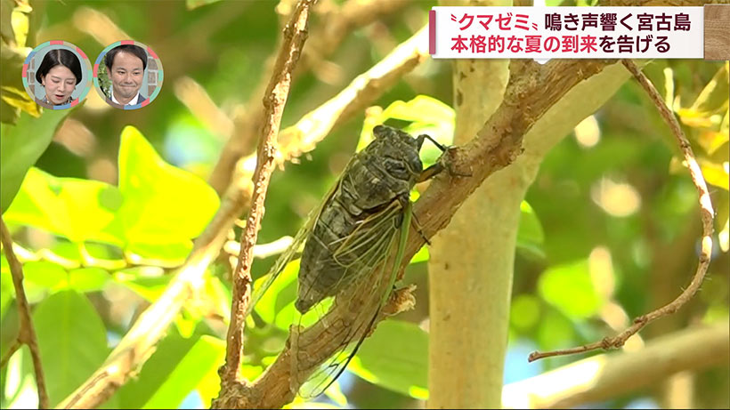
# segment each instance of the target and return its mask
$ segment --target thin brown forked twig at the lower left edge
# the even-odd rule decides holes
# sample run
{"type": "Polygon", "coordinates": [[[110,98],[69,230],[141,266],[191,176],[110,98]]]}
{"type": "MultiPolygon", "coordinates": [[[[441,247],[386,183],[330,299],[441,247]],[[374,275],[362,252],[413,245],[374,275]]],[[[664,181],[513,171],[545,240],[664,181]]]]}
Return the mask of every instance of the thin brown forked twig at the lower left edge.
{"type": "MultiPolygon", "coordinates": [[[[48,391],[45,390],[45,376],[43,374],[43,366],[41,366],[41,353],[38,350],[36,329],[33,327],[33,321],[30,318],[30,306],[28,305],[28,298],[26,298],[25,290],[23,289],[23,267],[20,265],[18,258],[15,257],[15,253],[12,252],[10,231],[5,226],[2,216],[0,216],[0,238],[2,238],[0,240],[3,243],[5,258],[7,258],[8,265],[10,265],[12,285],[15,287],[15,300],[18,301],[18,314],[20,315],[18,340],[12,345],[11,351],[13,349],[20,349],[21,344],[28,345],[30,357],[33,359],[33,370],[36,373],[38,408],[48,408],[48,391]]],[[[10,359],[11,354],[10,352],[8,353],[8,359],[10,359]]],[[[6,360],[3,358],[3,366],[5,363],[6,360]]]]}

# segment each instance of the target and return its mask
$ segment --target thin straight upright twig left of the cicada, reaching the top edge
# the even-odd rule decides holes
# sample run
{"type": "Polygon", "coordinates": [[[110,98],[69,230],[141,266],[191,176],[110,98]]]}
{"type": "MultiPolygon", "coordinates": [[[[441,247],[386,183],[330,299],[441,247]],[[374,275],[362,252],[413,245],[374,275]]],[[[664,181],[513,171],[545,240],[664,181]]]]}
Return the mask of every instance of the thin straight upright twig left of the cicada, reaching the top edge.
{"type": "Polygon", "coordinates": [[[264,215],[264,199],[275,166],[276,140],[279,135],[281,116],[287,103],[291,86],[291,74],[299,60],[307,35],[309,10],[314,0],[301,0],[284,29],[284,41],[274,65],[271,83],[264,96],[265,123],[258,146],[258,157],[254,173],[254,195],[243,233],[238,266],[233,274],[233,297],[231,325],[228,327],[225,364],[221,368],[221,397],[225,395],[226,384],[239,382],[239,367],[242,354],[244,312],[250,300],[251,262],[254,245],[264,215]]]}

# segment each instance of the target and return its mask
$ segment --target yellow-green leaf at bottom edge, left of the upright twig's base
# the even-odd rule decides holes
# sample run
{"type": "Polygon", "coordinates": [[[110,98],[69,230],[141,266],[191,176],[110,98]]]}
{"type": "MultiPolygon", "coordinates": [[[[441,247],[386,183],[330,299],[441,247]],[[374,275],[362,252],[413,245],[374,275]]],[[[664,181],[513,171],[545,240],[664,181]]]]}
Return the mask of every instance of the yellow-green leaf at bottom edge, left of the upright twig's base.
{"type": "Polygon", "coordinates": [[[215,337],[201,336],[141,408],[179,407],[208,374],[216,374],[224,356],[225,342],[215,337]]]}

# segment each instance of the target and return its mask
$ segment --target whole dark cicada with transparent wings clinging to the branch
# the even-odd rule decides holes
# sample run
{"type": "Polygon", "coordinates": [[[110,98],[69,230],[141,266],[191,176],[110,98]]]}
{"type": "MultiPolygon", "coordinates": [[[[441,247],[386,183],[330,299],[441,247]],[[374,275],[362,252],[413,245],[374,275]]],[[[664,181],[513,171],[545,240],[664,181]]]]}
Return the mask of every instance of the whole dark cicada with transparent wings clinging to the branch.
{"type": "Polygon", "coordinates": [[[413,138],[377,125],[373,135],[312,211],[251,303],[301,254],[299,315],[290,328],[289,349],[291,388],[303,397],[326,390],[371,332],[393,289],[414,221],[410,191],[443,169],[441,162],[423,169],[419,150],[426,139],[445,151],[426,134],[413,138]]]}

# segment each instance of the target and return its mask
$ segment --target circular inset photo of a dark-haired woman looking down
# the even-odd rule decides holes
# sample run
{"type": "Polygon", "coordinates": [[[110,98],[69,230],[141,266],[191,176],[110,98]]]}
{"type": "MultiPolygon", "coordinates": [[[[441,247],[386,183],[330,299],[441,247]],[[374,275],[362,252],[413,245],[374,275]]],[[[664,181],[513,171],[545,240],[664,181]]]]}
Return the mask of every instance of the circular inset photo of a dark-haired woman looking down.
{"type": "Polygon", "coordinates": [[[69,109],[91,88],[91,62],[85,52],[66,41],[38,45],[23,64],[23,86],[46,109],[69,109]]]}

